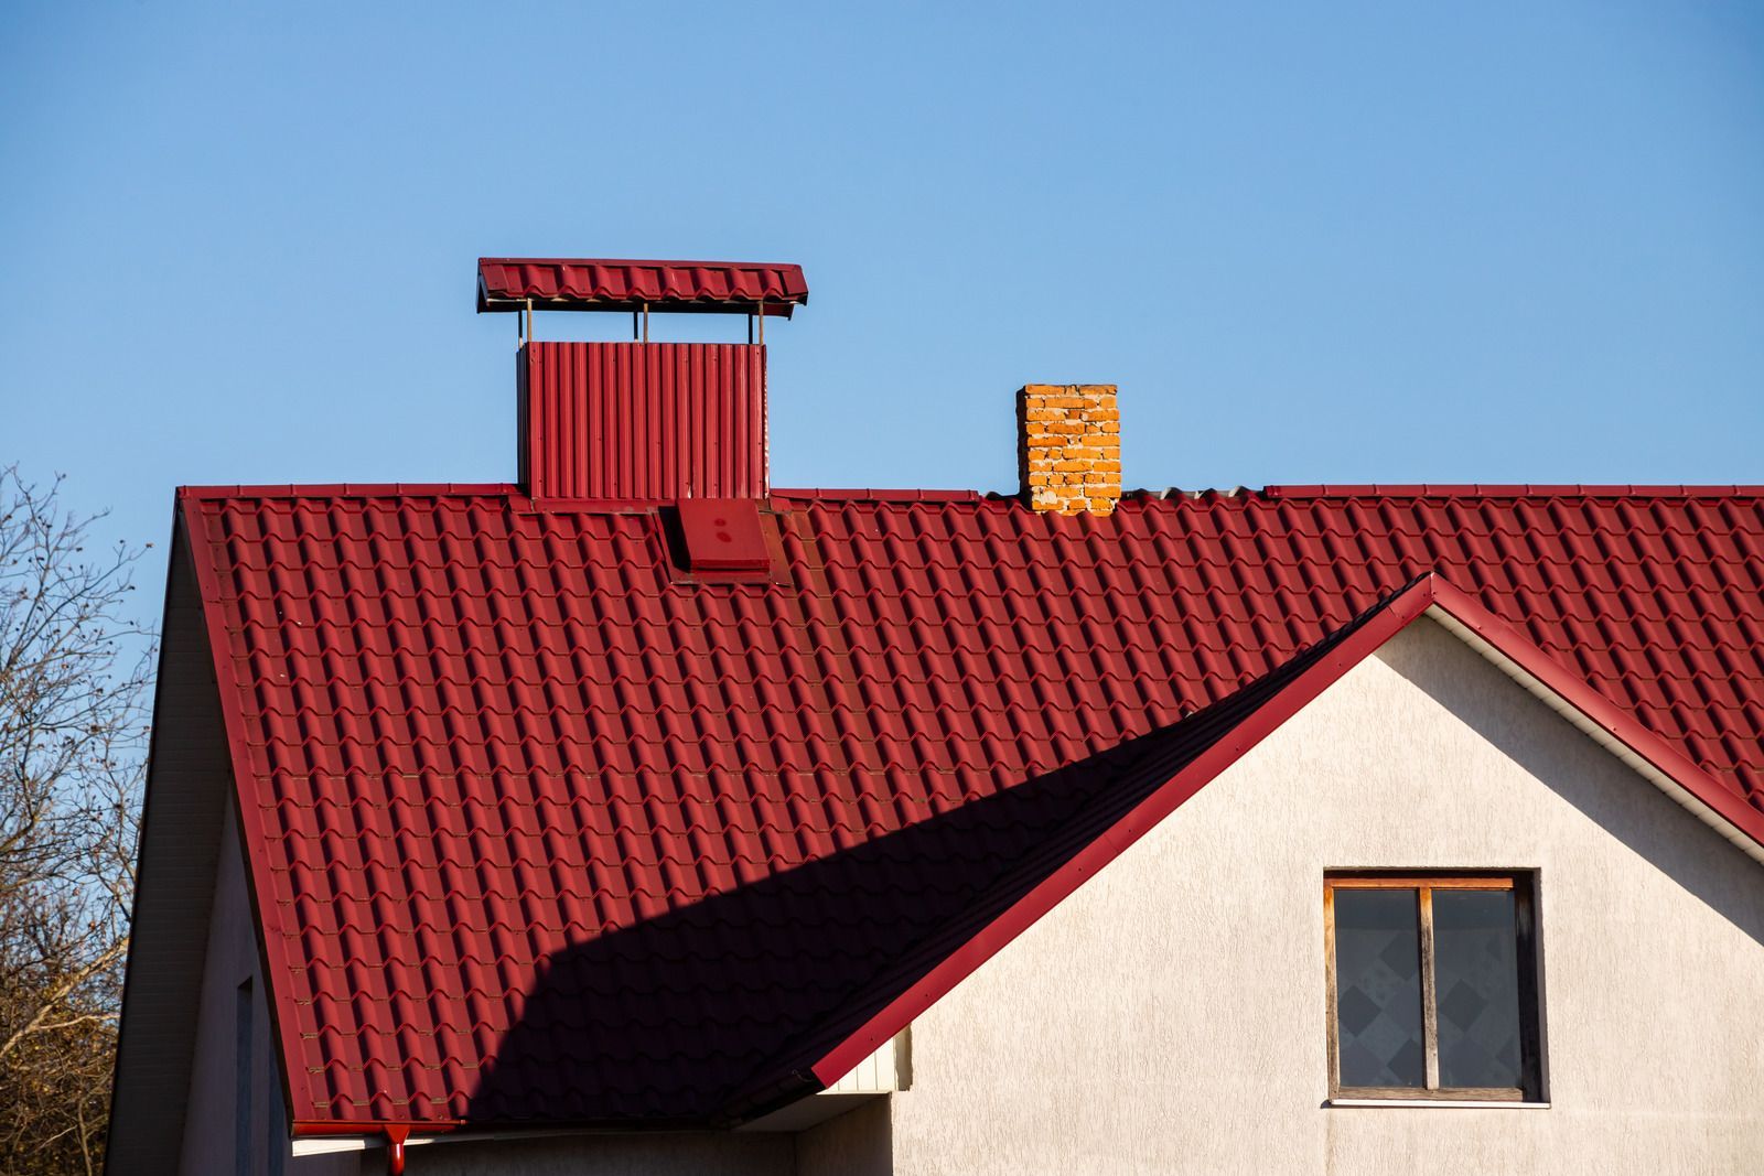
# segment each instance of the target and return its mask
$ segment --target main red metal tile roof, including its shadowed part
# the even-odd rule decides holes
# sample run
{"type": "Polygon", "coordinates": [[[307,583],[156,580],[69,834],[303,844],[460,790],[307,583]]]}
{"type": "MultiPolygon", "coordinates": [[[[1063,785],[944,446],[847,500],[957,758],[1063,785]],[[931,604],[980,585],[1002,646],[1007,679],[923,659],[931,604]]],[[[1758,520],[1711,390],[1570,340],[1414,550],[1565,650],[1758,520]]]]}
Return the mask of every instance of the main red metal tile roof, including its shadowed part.
{"type": "Polygon", "coordinates": [[[766,584],[510,487],[182,511],[316,1127],[804,1090],[1424,573],[1764,809],[1750,490],[778,492],[766,584]]]}

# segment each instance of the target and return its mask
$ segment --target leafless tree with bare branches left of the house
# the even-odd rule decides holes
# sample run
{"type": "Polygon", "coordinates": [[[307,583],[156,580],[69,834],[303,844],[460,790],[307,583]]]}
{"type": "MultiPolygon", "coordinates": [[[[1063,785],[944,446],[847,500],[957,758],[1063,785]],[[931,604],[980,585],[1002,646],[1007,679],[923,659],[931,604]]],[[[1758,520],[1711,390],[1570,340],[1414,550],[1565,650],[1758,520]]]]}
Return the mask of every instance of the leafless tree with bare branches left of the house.
{"type": "Polygon", "coordinates": [[[129,949],[150,635],[139,548],[0,467],[0,1174],[95,1172],[129,949]]]}

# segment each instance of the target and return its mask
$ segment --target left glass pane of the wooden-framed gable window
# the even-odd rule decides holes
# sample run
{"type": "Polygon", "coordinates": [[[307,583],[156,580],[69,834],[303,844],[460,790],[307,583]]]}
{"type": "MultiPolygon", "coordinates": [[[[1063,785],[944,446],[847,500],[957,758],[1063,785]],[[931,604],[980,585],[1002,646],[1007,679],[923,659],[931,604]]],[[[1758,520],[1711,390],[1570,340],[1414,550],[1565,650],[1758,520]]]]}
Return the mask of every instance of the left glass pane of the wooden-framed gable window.
{"type": "Polygon", "coordinates": [[[1342,1086],[1422,1086],[1422,934],[1415,890],[1335,890],[1342,1086]]]}

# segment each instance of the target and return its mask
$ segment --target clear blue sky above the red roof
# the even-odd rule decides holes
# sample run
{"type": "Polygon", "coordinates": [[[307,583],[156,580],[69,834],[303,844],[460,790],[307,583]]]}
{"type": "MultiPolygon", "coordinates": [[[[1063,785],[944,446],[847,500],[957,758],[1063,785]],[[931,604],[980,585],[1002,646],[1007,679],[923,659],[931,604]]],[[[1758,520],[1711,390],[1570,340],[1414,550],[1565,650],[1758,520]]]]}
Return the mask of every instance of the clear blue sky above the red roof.
{"type": "Polygon", "coordinates": [[[776,485],[1764,481],[1764,9],[1247,7],[5,5],[0,460],[512,478],[538,254],[801,263],[776,485]]]}

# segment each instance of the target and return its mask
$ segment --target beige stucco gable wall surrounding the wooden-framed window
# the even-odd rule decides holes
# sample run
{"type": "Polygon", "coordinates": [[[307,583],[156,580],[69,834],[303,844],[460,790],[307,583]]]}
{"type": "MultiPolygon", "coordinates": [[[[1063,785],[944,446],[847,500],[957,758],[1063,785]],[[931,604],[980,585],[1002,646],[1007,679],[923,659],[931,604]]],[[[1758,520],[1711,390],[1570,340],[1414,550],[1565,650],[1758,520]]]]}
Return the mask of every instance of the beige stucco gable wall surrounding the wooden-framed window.
{"type": "Polygon", "coordinates": [[[898,1172],[1764,1171],[1764,866],[1420,621],[914,1026],[898,1172]],[[1549,1109],[1325,1107],[1327,867],[1535,867],[1549,1109]]]}

